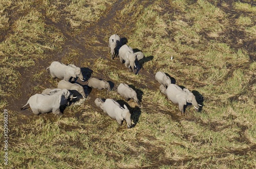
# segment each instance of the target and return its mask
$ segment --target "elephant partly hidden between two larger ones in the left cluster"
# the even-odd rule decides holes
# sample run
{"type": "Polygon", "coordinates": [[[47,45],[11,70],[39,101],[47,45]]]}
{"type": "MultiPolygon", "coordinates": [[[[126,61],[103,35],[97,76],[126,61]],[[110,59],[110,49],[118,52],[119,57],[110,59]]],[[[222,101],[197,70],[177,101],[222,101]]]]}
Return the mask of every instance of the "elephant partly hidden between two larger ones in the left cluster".
{"type": "Polygon", "coordinates": [[[70,83],[67,80],[61,80],[58,83],[58,88],[71,90],[72,93],[75,93],[77,91],[83,96],[83,98],[86,98],[86,93],[84,92],[83,87],[77,83],[70,83]]]}

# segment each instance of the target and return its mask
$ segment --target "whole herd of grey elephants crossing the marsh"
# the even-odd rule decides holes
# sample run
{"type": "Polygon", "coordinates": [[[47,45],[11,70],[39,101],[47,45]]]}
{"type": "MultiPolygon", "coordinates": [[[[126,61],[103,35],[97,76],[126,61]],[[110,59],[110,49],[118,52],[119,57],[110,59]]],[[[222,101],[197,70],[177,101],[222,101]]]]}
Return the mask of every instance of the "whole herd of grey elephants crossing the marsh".
{"type": "MultiPolygon", "coordinates": [[[[135,69],[138,69],[137,61],[144,57],[143,53],[134,53],[130,46],[126,44],[122,45],[120,37],[117,34],[110,36],[109,47],[111,49],[111,58],[114,59],[119,56],[120,61],[125,63],[125,66],[136,74],[135,69]]],[[[61,105],[68,105],[68,103],[76,101],[76,98],[86,98],[83,86],[75,83],[78,78],[81,81],[85,81],[85,79],[81,73],[80,67],[73,64],[65,65],[53,61],[47,69],[50,70],[52,78],[62,79],[59,81],[57,88],[47,88],[40,94],[32,95],[21,110],[26,109],[25,107],[29,104],[29,107],[36,115],[53,112],[53,114],[62,116],[63,113],[60,111],[61,105]]],[[[165,73],[158,71],[155,75],[155,79],[160,83],[160,91],[166,94],[170,101],[178,104],[182,113],[185,112],[187,105],[192,104],[197,110],[199,109],[199,106],[202,106],[197,103],[195,95],[192,92],[186,88],[182,89],[178,85],[173,84],[165,73]]],[[[90,78],[87,85],[99,90],[112,90],[110,83],[102,79],[90,78]]],[[[123,96],[125,100],[133,99],[140,106],[136,91],[129,87],[129,85],[120,83],[117,87],[117,93],[123,96]]],[[[94,103],[97,107],[102,109],[105,114],[115,118],[119,125],[122,125],[123,120],[125,120],[128,128],[134,126],[134,123],[131,120],[131,113],[126,105],[123,105],[122,107],[113,99],[104,100],[100,98],[97,98],[94,103]]]]}

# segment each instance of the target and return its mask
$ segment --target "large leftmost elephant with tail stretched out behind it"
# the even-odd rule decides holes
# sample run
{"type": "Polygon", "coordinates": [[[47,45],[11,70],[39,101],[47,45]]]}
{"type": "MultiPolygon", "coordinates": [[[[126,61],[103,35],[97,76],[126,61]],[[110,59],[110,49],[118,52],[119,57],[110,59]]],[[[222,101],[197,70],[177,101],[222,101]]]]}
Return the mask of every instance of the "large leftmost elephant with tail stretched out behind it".
{"type": "Polygon", "coordinates": [[[68,103],[68,100],[72,101],[72,99],[73,95],[67,89],[59,90],[52,95],[35,94],[29,98],[27,104],[20,108],[20,110],[27,109],[24,107],[29,104],[36,115],[53,112],[53,114],[62,116],[63,113],[60,112],[60,105],[65,105],[68,103]]]}

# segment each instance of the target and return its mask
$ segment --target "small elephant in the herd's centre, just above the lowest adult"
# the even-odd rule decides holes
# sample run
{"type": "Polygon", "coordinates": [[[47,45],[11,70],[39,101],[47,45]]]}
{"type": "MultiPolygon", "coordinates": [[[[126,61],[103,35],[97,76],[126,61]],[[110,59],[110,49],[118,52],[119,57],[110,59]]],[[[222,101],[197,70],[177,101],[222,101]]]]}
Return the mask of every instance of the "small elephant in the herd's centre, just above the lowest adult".
{"type": "Polygon", "coordinates": [[[126,101],[129,100],[130,98],[134,99],[134,101],[140,106],[136,91],[131,87],[129,87],[127,84],[120,83],[119,86],[117,87],[117,92],[121,96],[123,96],[126,101]]]}

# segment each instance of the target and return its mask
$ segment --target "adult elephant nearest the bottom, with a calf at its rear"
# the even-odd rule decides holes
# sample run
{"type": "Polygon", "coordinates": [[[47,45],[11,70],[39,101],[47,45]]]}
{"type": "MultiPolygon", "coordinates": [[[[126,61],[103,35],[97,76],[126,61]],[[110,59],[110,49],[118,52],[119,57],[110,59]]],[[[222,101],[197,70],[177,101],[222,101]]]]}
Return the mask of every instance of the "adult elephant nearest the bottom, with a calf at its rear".
{"type": "Polygon", "coordinates": [[[120,104],[113,99],[106,99],[103,104],[103,112],[108,113],[109,116],[115,118],[120,126],[125,119],[128,128],[132,128],[131,113],[126,105],[123,105],[123,107],[124,108],[122,108],[120,104]]]}

